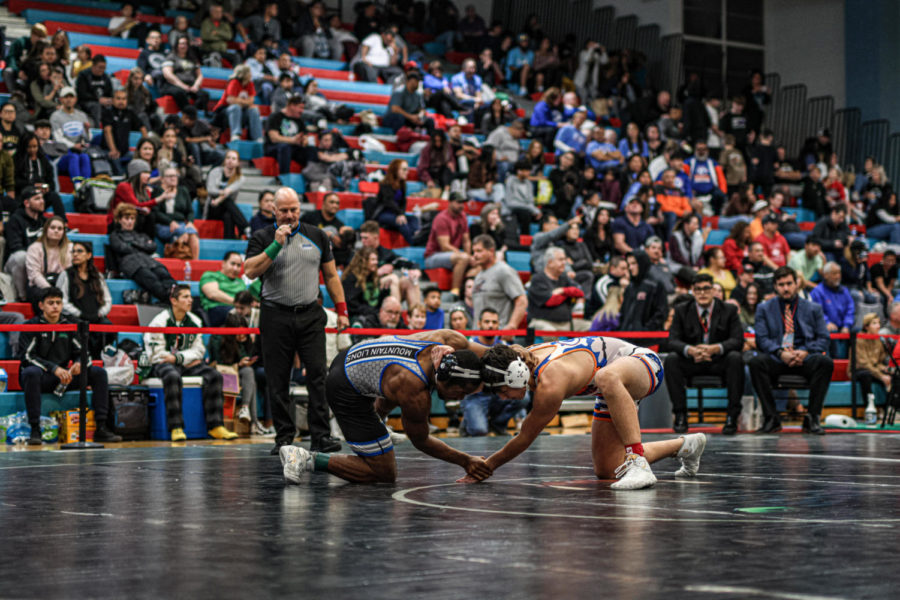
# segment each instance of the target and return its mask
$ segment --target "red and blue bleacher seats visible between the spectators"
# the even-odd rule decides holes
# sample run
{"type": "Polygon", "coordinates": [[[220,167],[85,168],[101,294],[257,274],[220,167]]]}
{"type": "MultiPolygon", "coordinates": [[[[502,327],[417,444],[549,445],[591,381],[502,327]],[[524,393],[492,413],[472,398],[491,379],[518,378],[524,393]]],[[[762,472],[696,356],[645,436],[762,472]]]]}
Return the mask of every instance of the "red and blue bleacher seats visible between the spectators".
{"type": "MultiPolygon", "coordinates": [[[[21,14],[28,23],[44,23],[51,34],[58,29],[67,31],[73,48],[80,44],[87,44],[92,48],[94,53],[104,54],[107,57],[107,70],[110,74],[116,72],[124,72],[127,74],[127,70],[134,65],[135,58],[139,54],[136,40],[122,39],[108,35],[107,24],[110,17],[117,14],[117,4],[114,5],[97,0],[70,0],[69,2],[49,0],[9,0],[7,5],[10,11],[21,14]]],[[[145,22],[159,24],[165,34],[172,26],[175,14],[178,14],[177,11],[167,11],[165,16],[141,15],[140,18],[145,22]]],[[[199,34],[199,32],[195,33],[199,34]]],[[[408,33],[406,34],[406,39],[410,44],[423,46],[424,50],[428,53],[443,56],[446,61],[450,63],[460,64],[465,58],[472,56],[462,52],[445,52],[446,48],[439,42],[433,41],[433,37],[427,34],[408,33]]],[[[348,64],[343,60],[334,61],[303,57],[294,57],[293,60],[299,66],[301,77],[314,77],[318,80],[319,89],[328,100],[345,104],[354,109],[357,113],[363,110],[370,110],[379,117],[386,114],[387,103],[392,92],[390,84],[355,81],[354,74],[348,70],[348,64]]],[[[223,94],[223,90],[232,74],[232,69],[203,67],[202,71],[205,78],[204,89],[209,93],[212,101],[218,100],[223,94]]],[[[173,98],[163,96],[156,98],[156,101],[166,113],[175,114],[178,112],[178,107],[175,105],[173,98]]],[[[200,108],[207,110],[209,107],[200,108]]],[[[519,109],[519,111],[520,116],[525,116],[526,113],[523,109],[519,109]]],[[[262,116],[267,116],[269,114],[269,107],[261,106],[260,112],[262,116]]],[[[344,134],[347,143],[352,148],[361,148],[359,138],[352,135],[355,132],[355,123],[357,121],[358,115],[354,117],[353,122],[349,124],[333,123],[329,124],[329,126],[334,127],[344,134]]],[[[472,125],[465,126],[464,131],[467,133],[472,132],[472,125]]],[[[99,130],[93,130],[92,133],[99,133],[99,130]]],[[[416,170],[419,158],[418,154],[400,152],[394,141],[394,132],[390,129],[375,127],[373,134],[376,136],[384,136],[382,141],[385,145],[385,151],[364,152],[365,160],[368,163],[366,165],[367,171],[371,173],[384,170],[392,160],[403,159],[407,161],[410,166],[409,181],[407,182],[408,210],[410,211],[410,214],[412,211],[416,210],[417,207],[426,204],[436,203],[439,210],[446,208],[446,200],[435,200],[433,198],[415,196],[415,194],[420,193],[424,189],[424,185],[418,181],[418,173],[416,170]]],[[[226,138],[225,142],[227,142],[227,146],[236,149],[241,159],[259,169],[263,176],[278,176],[283,185],[291,187],[299,194],[305,194],[305,200],[311,202],[316,208],[321,207],[324,193],[320,191],[310,191],[310,193],[306,193],[307,185],[304,177],[299,173],[299,165],[294,163],[290,173],[279,174],[276,161],[263,155],[262,144],[246,140],[231,142],[227,139],[226,132],[223,132],[222,135],[226,138]]],[[[133,132],[129,136],[129,144],[133,146],[139,137],[139,134],[133,132]]],[[[484,141],[483,135],[477,137],[481,141],[484,141]]],[[[526,147],[529,142],[530,140],[527,139],[522,140],[523,148],[526,147]]],[[[544,162],[546,164],[543,172],[545,175],[549,174],[555,160],[555,155],[552,152],[547,152],[544,155],[544,162]]],[[[106,246],[108,245],[106,216],[75,213],[73,197],[71,195],[71,192],[74,189],[72,181],[68,177],[60,177],[59,184],[60,190],[65,192],[62,194],[62,198],[63,204],[68,211],[69,227],[78,230],[77,233],[71,233],[69,235],[70,239],[73,241],[81,240],[92,242],[95,261],[97,262],[98,268],[102,269],[105,264],[105,251],[106,246]]],[[[376,194],[377,191],[378,184],[375,182],[351,182],[349,191],[339,193],[341,199],[341,210],[338,213],[339,218],[347,225],[358,228],[364,220],[362,211],[362,202],[364,198],[376,194]]],[[[254,213],[254,207],[245,203],[240,203],[238,206],[249,220],[254,213]]],[[[483,204],[481,203],[469,202],[466,205],[466,213],[470,217],[477,217],[480,215],[482,207],[483,204]]],[[[809,208],[786,207],[784,210],[797,216],[797,222],[802,231],[810,231],[813,228],[815,221],[814,213],[809,208]]],[[[198,216],[200,215],[199,205],[196,207],[196,214],[198,216]]],[[[713,227],[707,239],[707,245],[721,245],[727,238],[728,231],[718,228],[718,217],[709,218],[708,220],[705,220],[705,223],[707,221],[713,227]]],[[[202,274],[210,270],[218,270],[222,256],[226,251],[235,250],[242,253],[246,252],[247,242],[243,240],[221,239],[223,235],[223,225],[220,221],[204,221],[198,219],[195,221],[195,225],[200,231],[200,258],[195,261],[190,261],[191,277],[193,281],[188,283],[191,285],[192,293],[198,294],[199,284],[197,281],[202,274]]],[[[534,234],[536,230],[537,226],[535,225],[532,227],[530,233],[534,234]]],[[[864,233],[865,229],[859,228],[858,231],[864,233]]],[[[531,243],[531,235],[521,236],[520,241],[523,245],[529,245],[531,243]]],[[[868,242],[870,246],[875,243],[874,240],[871,239],[869,239],[868,242]]],[[[387,230],[382,230],[381,232],[381,243],[387,248],[394,249],[394,252],[408,258],[424,269],[424,248],[409,247],[399,233],[387,230]]],[[[162,245],[160,244],[160,252],[161,251],[162,245]]],[[[880,255],[871,253],[869,256],[869,263],[874,264],[878,259],[880,259],[880,255]]],[[[173,278],[179,281],[184,279],[184,261],[172,259],[158,260],[166,266],[173,278]]],[[[528,252],[509,251],[506,254],[506,261],[520,274],[523,281],[528,281],[531,276],[530,254],[528,252]]],[[[441,289],[449,289],[450,272],[446,269],[430,269],[426,270],[425,274],[428,279],[435,282],[441,289]]],[[[136,308],[121,304],[123,292],[129,289],[137,289],[136,283],[130,280],[111,278],[108,280],[108,285],[115,303],[113,311],[109,315],[110,320],[114,324],[137,324],[136,308]]],[[[325,295],[326,306],[333,306],[332,300],[324,286],[322,286],[322,290],[325,295]]],[[[23,314],[30,314],[31,312],[30,305],[10,303],[6,306],[7,310],[21,310],[23,314]]],[[[135,337],[139,338],[140,336],[135,334],[131,337],[134,339],[135,337]]],[[[0,345],[3,345],[4,348],[6,347],[5,337],[3,335],[0,335],[0,345]]],[[[12,364],[10,361],[0,361],[0,366],[6,368],[7,372],[10,374],[15,368],[15,384],[18,385],[18,369],[16,365],[12,364]],[[7,366],[4,366],[5,363],[9,363],[8,368],[7,366]]],[[[844,377],[844,370],[843,367],[838,367],[836,364],[834,378],[836,383],[832,386],[833,392],[829,395],[829,403],[835,401],[834,398],[842,398],[847,393],[845,388],[848,389],[849,384],[845,382],[845,378],[841,379],[844,377]]],[[[15,389],[15,387],[13,387],[12,378],[10,379],[10,389],[15,389]]],[[[715,390],[709,390],[708,392],[709,403],[712,408],[717,407],[715,404],[715,392],[715,390]]],[[[7,394],[0,394],[0,406],[2,406],[4,401],[8,401],[5,398],[6,396],[7,394]]],[[[68,400],[68,396],[66,400],[68,400]]],[[[0,414],[4,413],[0,412],[0,414]]]]}

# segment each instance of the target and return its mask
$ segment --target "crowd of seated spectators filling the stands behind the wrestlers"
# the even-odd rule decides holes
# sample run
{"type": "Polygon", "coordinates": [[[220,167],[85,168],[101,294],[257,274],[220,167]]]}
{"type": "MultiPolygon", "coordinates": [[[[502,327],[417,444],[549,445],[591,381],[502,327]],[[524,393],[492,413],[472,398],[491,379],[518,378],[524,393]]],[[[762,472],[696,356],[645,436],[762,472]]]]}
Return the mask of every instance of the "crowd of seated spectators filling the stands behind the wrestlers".
{"type": "MultiPolygon", "coordinates": [[[[124,4],[109,35],[137,40],[140,54],[123,73],[40,23],[10,45],[11,97],[0,107],[6,303],[47,315],[59,298],[66,318],[109,323],[105,277],[114,276],[135,281],[128,299],[161,304],[160,322],[171,326],[253,324],[258,283],[242,276],[240,252],[202,275],[196,301],[157,260],[197,259],[198,221],[221,223],[230,240],[273,226],[272,191],[255,198],[252,219],[240,209],[250,165],[230,143],[247,142],[279,177],[299,167],[302,221],[330,239],[355,327],[670,330],[666,371],[679,387],[704,363],[734,375],[731,433],[745,365],[763,429],[774,431],[774,374],[827,389],[822,353],[851,350],[829,333],[874,331],[873,322],[900,332],[900,203],[884,168],[872,158],[859,173],[842,168],[827,128],[789,152],[768,125],[758,71],[727,96],[696,74],[672,94],[652,87],[636,51],[551,39],[536,17],[510,31],[449,0],[360,3],[352,27],[320,1],[200,4],[165,38],[124,4]],[[426,60],[419,32],[462,53],[461,64],[426,60]],[[390,85],[385,116],[329,100],[294,56],[344,60],[357,81],[390,85]],[[216,102],[204,85],[209,66],[232,70],[216,102]],[[158,109],[164,96],[176,113],[158,109]],[[336,126],[351,123],[353,140],[336,126]],[[363,138],[366,150],[388,142],[406,158],[379,162],[354,228],[340,211],[344,192],[369,178],[363,138]],[[69,239],[64,177],[79,213],[107,215],[105,273],[97,248],[69,239]],[[883,246],[879,261],[871,242],[883,246]],[[400,246],[422,248],[421,260],[400,246]]],[[[210,363],[239,369],[254,390],[242,396],[241,418],[267,431],[250,400],[265,388],[260,340],[217,342],[207,362],[202,339],[188,338],[147,340],[173,439],[183,435],[178,381],[194,374],[209,429],[222,435],[221,377],[210,363]]],[[[105,341],[92,340],[94,356],[105,341]]],[[[889,385],[886,357],[865,356],[866,383],[889,385]]],[[[824,395],[813,386],[809,431],[819,430],[824,395]]],[[[487,396],[464,402],[472,435],[522,409],[487,396]]],[[[685,429],[679,393],[673,410],[685,429]]]]}

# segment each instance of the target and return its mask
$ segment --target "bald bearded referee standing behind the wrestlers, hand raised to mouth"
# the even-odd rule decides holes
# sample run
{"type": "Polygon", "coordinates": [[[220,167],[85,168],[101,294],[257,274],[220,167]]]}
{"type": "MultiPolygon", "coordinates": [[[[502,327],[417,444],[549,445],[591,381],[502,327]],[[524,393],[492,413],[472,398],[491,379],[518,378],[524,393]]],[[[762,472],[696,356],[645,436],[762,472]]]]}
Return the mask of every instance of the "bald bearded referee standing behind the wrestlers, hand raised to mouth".
{"type": "Polygon", "coordinates": [[[311,449],[340,450],[332,438],[325,400],[325,311],[317,301],[319,271],[334,300],[338,330],[349,326],[344,288],[331,255],[331,242],[317,227],[300,223],[300,198],[291,188],[275,192],[275,225],[258,230],[247,245],[244,272],[262,280],[259,330],[269,398],[275,421],[275,448],[294,442],[290,375],[294,353],[306,368],[311,449]]]}

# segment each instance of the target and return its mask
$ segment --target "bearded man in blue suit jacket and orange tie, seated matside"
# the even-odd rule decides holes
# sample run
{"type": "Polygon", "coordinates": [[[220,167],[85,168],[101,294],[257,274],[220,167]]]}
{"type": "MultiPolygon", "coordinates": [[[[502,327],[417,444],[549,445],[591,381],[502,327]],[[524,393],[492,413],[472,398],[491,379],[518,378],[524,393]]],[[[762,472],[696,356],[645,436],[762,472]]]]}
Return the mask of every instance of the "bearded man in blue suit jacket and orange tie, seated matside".
{"type": "Polygon", "coordinates": [[[750,360],[750,380],[762,404],[765,421],[758,433],[781,430],[772,398],[772,381],[779,375],[802,375],[809,380],[809,407],[803,432],[823,434],[819,424],[834,362],[823,354],[830,337],[822,307],[797,296],[797,275],[790,267],[775,271],[776,297],[756,310],[756,348],[750,360]]]}

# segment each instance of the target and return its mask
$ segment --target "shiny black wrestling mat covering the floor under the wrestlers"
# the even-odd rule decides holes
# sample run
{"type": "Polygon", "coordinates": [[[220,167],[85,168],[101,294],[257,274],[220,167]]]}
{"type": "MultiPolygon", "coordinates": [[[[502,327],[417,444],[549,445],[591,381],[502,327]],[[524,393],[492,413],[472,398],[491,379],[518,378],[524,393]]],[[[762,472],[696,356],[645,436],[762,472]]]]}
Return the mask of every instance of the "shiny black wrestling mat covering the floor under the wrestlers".
{"type": "Polygon", "coordinates": [[[811,600],[900,582],[894,434],[712,435],[695,479],[664,460],[654,488],[621,492],[588,435],[542,436],[477,485],[406,442],[395,485],[285,487],[270,447],[0,453],[0,597],[811,600]]]}

